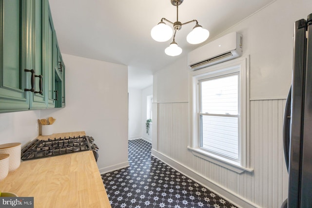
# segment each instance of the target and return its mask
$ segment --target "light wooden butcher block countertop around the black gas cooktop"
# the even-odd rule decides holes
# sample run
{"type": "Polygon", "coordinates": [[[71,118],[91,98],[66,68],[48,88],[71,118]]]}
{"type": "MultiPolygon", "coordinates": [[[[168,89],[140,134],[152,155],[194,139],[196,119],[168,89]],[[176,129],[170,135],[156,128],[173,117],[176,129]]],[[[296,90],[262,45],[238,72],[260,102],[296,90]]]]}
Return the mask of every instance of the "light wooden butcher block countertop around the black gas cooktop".
{"type": "MultiPolygon", "coordinates": [[[[38,139],[85,135],[55,133],[38,139]]],[[[34,197],[35,208],[111,208],[92,151],[22,161],[0,181],[0,191],[34,197]]]]}

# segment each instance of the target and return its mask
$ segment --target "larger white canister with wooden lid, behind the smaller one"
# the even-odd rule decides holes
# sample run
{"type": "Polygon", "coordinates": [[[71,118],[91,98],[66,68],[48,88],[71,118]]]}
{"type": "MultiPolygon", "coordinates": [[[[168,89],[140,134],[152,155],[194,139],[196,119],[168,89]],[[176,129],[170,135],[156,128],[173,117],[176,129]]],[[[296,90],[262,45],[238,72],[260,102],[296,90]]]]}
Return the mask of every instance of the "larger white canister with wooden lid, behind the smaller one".
{"type": "Polygon", "coordinates": [[[20,143],[8,143],[0,145],[0,154],[9,154],[9,171],[16,170],[20,167],[20,143]]]}

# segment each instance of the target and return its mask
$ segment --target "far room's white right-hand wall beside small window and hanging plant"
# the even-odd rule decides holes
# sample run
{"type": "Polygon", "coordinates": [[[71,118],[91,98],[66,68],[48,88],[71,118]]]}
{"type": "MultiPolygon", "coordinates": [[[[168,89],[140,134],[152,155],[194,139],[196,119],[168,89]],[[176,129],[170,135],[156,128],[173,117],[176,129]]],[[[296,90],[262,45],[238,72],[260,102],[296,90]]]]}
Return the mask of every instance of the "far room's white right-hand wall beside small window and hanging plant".
{"type": "MultiPolygon", "coordinates": [[[[142,89],[142,117],[141,117],[141,132],[142,132],[142,138],[146,139],[147,141],[152,142],[152,135],[153,135],[153,127],[150,125],[149,134],[146,133],[146,127],[145,122],[148,119],[146,117],[147,112],[147,96],[153,95],[153,86],[146,87],[142,89]]],[[[154,97],[153,97],[154,98],[154,97]]],[[[153,119],[152,119],[153,122],[153,119]]]]}

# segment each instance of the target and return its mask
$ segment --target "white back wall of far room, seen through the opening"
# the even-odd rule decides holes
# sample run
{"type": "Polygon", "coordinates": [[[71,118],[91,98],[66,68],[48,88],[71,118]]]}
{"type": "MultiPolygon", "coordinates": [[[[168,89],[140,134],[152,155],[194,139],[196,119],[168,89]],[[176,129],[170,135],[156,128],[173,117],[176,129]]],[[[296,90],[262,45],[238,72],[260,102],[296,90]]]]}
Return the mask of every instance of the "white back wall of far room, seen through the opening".
{"type": "Polygon", "coordinates": [[[142,137],[142,90],[129,88],[129,139],[142,137]]]}

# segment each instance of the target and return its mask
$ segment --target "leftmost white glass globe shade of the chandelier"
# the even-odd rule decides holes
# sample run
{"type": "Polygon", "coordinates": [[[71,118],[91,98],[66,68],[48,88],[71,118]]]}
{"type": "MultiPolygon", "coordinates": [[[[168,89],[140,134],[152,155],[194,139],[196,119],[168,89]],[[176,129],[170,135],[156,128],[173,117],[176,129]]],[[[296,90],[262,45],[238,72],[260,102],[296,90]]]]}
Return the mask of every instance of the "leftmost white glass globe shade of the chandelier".
{"type": "Polygon", "coordinates": [[[163,21],[159,22],[151,30],[151,36],[158,42],[165,42],[169,40],[173,35],[173,30],[169,25],[166,25],[163,21]]]}

